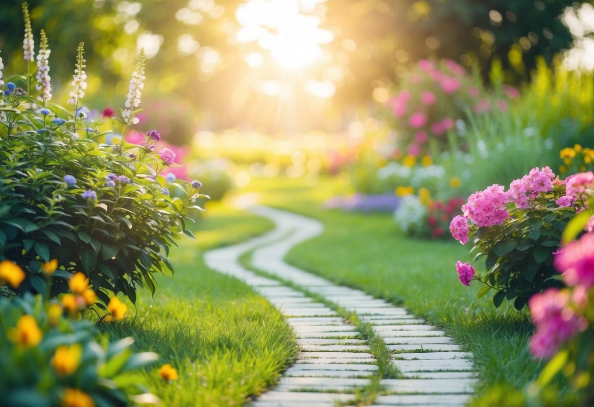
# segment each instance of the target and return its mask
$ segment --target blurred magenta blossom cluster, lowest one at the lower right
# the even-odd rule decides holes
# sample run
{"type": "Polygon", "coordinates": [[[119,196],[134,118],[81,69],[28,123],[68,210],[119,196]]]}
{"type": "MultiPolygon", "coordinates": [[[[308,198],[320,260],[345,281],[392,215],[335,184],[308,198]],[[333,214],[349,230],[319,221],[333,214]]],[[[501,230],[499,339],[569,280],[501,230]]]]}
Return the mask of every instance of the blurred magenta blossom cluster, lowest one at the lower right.
{"type": "Polygon", "coordinates": [[[563,342],[586,329],[587,322],[570,306],[568,290],[548,290],[528,300],[536,332],[530,338],[530,351],[537,357],[549,358],[563,342]]]}

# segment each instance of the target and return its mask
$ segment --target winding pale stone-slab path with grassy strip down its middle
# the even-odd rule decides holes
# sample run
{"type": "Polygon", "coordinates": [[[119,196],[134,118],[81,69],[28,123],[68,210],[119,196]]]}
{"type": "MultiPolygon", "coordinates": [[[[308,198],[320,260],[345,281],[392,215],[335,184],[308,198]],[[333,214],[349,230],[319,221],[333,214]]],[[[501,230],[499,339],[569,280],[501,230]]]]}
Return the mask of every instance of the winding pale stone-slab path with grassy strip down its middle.
{"type": "Polygon", "coordinates": [[[377,360],[357,327],[342,319],[311,293],[369,323],[393,351],[399,379],[381,379],[385,391],[376,406],[463,406],[472,394],[472,354],[423,319],[361,290],[343,287],[283,261],[295,244],[323,231],[320,222],[266,206],[248,208],[274,221],[264,236],[211,250],[206,264],[251,285],[276,306],[295,332],[301,352],[273,390],[252,407],[333,407],[355,400],[356,390],[371,384],[377,360]],[[290,284],[258,275],[239,263],[252,252],[251,265],[290,284]],[[292,287],[290,287],[292,285],[292,287]],[[295,287],[295,288],[293,288],[295,287]]]}

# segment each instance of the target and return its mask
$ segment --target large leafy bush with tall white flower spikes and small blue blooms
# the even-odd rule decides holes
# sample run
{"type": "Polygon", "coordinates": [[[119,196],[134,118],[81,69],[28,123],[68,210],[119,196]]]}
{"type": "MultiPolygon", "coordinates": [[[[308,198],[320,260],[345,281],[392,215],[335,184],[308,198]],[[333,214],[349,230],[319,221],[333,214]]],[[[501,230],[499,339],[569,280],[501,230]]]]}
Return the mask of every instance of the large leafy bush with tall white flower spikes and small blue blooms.
{"type": "MultiPolygon", "coordinates": [[[[175,154],[168,148],[153,151],[153,131],[143,145],[129,145],[121,136],[114,145],[99,142],[113,132],[99,131],[100,123],[86,120],[83,52],[81,43],[68,100],[71,113],[46,106],[50,97],[43,86],[42,101],[29,94],[31,88],[12,82],[2,93],[0,260],[12,260],[24,270],[21,294],[45,292],[42,264],[57,259],[54,275],[68,278],[83,271],[103,307],[110,292],[123,292],[134,303],[139,285],[154,292],[154,272],[173,272],[169,247],[180,233],[193,236],[186,222],[192,220],[191,209],[201,209],[193,203],[203,196],[201,185],[175,180],[169,185],[182,197],[169,196],[163,174],[176,166],[175,154]]],[[[143,81],[141,52],[119,134],[137,122],[132,109],[140,104],[143,81]]],[[[54,295],[65,292],[67,282],[56,281],[51,290],[54,295]]]]}

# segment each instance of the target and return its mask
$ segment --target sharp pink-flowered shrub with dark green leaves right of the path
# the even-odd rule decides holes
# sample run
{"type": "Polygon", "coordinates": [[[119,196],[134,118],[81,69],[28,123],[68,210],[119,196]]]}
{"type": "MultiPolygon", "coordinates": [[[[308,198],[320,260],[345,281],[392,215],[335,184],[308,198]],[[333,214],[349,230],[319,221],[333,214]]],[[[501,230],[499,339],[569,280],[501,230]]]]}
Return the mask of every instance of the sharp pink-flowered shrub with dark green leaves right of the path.
{"type": "Polygon", "coordinates": [[[473,262],[485,257],[486,274],[475,274],[469,263],[457,264],[461,281],[481,281],[479,298],[489,289],[496,307],[505,298],[522,309],[528,298],[551,287],[563,287],[553,266],[554,252],[561,246],[561,233],[576,211],[586,206],[587,190],[594,186],[592,173],[555,178],[549,167],[503,186],[492,185],[473,193],[450,224],[454,239],[473,240],[473,262]]]}

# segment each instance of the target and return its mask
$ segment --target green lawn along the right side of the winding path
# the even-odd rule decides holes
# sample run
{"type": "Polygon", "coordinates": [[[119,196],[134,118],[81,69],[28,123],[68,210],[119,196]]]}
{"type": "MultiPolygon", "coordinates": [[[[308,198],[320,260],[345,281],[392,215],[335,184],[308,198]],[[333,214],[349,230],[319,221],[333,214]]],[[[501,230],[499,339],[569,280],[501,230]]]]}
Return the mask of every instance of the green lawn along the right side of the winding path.
{"type": "MultiPolygon", "coordinates": [[[[475,356],[479,383],[472,405],[524,405],[523,390],[544,365],[529,352],[529,315],[508,303],[495,309],[492,293],[476,298],[482,285],[460,283],[455,264],[457,260],[470,261],[469,246],[453,239],[410,239],[388,214],[323,209],[323,201],[334,193],[331,180],[321,179],[311,187],[301,180],[256,179],[247,188],[259,190],[263,204],[324,223],[324,233],[290,250],[287,262],[403,304],[443,327],[463,350],[475,356]]],[[[567,386],[557,384],[561,386],[557,401],[562,405],[570,395],[567,386]]]]}

